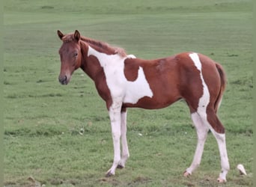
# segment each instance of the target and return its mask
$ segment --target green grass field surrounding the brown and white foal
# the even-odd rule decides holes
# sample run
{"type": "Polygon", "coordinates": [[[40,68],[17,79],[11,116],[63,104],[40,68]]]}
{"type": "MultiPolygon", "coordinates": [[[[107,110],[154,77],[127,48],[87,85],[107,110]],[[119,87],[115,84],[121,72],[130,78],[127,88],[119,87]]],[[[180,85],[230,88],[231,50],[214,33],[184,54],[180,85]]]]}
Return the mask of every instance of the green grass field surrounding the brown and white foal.
{"type": "Polygon", "coordinates": [[[219,150],[209,134],[189,178],[196,133],[184,102],[128,111],[130,158],[106,178],[109,116],[93,82],[77,70],[58,83],[56,31],[124,47],[139,58],[195,51],[225,68],[219,117],[231,171],[222,186],[252,186],[252,1],[4,1],[4,186],[218,186],[219,150]],[[84,129],[83,135],[79,134],[84,129]],[[241,176],[242,163],[247,176],[241,176]]]}

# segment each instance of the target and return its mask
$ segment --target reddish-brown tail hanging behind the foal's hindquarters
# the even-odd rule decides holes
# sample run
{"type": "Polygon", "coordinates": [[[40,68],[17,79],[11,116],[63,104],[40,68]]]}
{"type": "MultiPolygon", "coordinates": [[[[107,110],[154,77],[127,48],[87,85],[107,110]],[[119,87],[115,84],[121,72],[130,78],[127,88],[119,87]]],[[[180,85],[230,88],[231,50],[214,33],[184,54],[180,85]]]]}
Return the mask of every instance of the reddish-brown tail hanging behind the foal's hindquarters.
{"type": "Polygon", "coordinates": [[[215,105],[214,105],[214,110],[217,113],[217,111],[219,109],[219,106],[221,105],[222,96],[223,96],[223,93],[224,93],[226,85],[227,85],[227,78],[226,78],[226,75],[225,75],[225,71],[224,71],[223,67],[220,64],[216,63],[216,68],[219,72],[219,76],[220,76],[220,79],[221,79],[221,88],[219,90],[219,95],[218,95],[218,97],[216,99],[216,102],[215,102],[215,105]]]}

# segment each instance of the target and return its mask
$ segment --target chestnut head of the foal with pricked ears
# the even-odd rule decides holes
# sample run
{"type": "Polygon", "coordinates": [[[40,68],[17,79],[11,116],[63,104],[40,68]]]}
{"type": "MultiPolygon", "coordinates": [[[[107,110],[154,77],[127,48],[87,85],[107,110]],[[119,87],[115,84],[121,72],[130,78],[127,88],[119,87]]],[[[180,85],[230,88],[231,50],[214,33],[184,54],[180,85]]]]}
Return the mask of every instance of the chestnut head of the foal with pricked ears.
{"type": "Polygon", "coordinates": [[[73,72],[81,65],[80,34],[79,31],[75,31],[73,34],[62,34],[61,31],[57,31],[57,33],[58,37],[63,41],[59,49],[61,73],[58,76],[58,81],[62,85],[67,85],[73,72]]]}

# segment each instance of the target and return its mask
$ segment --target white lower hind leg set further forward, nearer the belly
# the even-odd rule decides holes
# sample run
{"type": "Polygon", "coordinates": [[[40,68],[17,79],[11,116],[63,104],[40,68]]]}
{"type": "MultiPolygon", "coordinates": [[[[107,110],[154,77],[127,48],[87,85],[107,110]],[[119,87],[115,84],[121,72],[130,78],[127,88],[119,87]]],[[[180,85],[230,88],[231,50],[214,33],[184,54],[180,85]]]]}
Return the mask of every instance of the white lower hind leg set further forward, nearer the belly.
{"type": "Polygon", "coordinates": [[[198,144],[195,150],[195,155],[192,164],[184,172],[184,177],[191,175],[192,171],[194,171],[200,165],[201,157],[204,151],[204,143],[207,139],[207,132],[209,131],[209,128],[201,120],[201,117],[198,115],[198,113],[192,113],[191,117],[198,135],[198,144]]]}

